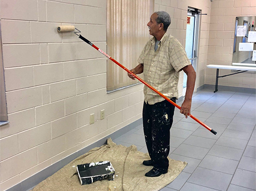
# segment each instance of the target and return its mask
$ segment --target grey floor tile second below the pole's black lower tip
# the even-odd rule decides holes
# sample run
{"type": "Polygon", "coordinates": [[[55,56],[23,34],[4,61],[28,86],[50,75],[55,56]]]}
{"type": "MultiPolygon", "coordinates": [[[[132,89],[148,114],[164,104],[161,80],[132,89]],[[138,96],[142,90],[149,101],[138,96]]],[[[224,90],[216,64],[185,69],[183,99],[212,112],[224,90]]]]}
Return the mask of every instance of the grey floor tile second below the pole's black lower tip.
{"type": "Polygon", "coordinates": [[[243,150],[234,149],[226,146],[214,145],[208,154],[214,155],[216,157],[223,157],[226,159],[239,161],[242,157],[243,150]]]}

